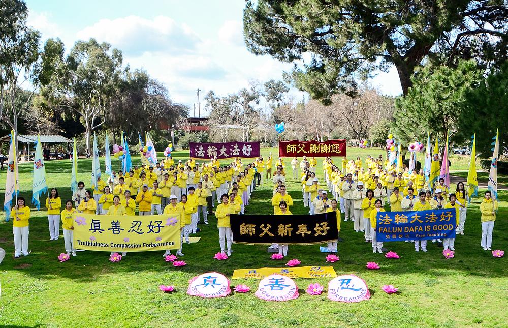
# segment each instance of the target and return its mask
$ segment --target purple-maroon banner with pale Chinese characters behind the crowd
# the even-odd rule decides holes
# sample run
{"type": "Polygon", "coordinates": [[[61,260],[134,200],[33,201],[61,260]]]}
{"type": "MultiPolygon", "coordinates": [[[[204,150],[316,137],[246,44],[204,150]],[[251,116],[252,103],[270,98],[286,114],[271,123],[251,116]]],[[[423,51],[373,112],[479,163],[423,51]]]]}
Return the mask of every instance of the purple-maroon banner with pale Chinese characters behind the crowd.
{"type": "Polygon", "coordinates": [[[190,142],[190,157],[211,159],[215,156],[217,159],[244,157],[259,157],[259,141],[255,142],[224,142],[224,143],[202,143],[190,142]]]}

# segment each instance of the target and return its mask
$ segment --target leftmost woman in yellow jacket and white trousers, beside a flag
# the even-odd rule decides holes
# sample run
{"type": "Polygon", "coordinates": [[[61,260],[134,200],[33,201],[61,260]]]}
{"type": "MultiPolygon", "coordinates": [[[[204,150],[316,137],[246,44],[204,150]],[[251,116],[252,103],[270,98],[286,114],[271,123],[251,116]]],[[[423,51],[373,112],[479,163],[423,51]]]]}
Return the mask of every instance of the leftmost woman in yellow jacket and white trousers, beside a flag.
{"type": "Polygon", "coordinates": [[[14,233],[14,257],[21,254],[28,256],[28,221],[30,220],[30,208],[25,205],[25,199],[18,197],[18,203],[11,210],[11,218],[14,233]]]}

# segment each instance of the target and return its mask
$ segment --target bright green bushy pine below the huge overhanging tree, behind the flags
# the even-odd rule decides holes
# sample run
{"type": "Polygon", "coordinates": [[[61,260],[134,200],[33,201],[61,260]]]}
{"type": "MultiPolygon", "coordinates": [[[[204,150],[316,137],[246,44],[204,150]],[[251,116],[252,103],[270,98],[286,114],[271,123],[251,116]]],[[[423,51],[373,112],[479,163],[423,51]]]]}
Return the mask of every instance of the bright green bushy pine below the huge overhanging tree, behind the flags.
{"type": "MultiPolygon", "coordinates": [[[[412,78],[406,96],[395,102],[392,128],[397,139],[404,144],[432,139],[441,142],[450,131],[450,143],[462,144],[472,134],[471,129],[459,129],[461,120],[474,116],[474,109],[465,107],[465,95],[480,85],[482,70],[473,61],[461,61],[456,69],[426,66],[412,78]]],[[[482,106],[483,107],[483,106],[482,106]]]]}

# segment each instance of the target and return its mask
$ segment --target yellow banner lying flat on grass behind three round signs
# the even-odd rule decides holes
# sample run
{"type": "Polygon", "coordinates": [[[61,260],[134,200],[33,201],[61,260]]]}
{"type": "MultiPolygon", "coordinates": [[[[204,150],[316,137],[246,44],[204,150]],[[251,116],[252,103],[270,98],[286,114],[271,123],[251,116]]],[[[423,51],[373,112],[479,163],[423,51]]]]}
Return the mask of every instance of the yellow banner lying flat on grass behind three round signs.
{"type": "Polygon", "coordinates": [[[263,279],[273,274],[289,278],[337,277],[333,266],[261,267],[260,269],[237,269],[233,279],[263,279]]]}

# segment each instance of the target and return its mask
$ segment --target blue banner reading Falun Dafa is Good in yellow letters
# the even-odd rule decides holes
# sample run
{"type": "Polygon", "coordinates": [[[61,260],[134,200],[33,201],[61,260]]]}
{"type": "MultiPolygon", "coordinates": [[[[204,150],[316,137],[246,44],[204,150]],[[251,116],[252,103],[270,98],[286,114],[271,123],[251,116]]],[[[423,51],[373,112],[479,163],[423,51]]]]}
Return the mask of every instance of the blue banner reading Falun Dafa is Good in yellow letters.
{"type": "Polygon", "coordinates": [[[401,242],[455,238],[455,208],[444,210],[378,212],[377,241],[401,242]]]}

